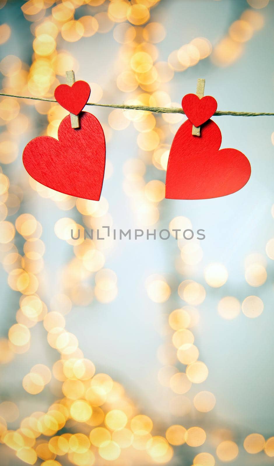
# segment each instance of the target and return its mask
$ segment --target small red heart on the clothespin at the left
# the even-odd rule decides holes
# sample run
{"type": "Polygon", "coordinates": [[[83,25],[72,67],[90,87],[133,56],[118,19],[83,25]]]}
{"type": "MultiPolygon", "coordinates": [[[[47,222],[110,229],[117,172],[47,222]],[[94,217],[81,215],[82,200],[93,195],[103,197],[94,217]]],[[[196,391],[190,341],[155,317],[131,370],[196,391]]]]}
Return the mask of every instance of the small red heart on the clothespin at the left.
{"type": "Polygon", "coordinates": [[[60,84],[55,89],[55,99],[69,113],[78,115],[89,100],[90,87],[85,81],[76,81],[72,86],[60,84]]]}

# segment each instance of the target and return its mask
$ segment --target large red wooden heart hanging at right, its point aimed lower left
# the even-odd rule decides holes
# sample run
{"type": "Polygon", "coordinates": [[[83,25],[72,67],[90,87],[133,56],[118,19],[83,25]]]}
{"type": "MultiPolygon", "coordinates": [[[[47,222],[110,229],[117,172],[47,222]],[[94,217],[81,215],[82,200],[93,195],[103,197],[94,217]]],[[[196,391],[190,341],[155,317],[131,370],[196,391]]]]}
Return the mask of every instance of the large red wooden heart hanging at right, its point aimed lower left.
{"type": "Polygon", "coordinates": [[[247,157],[236,149],[221,149],[222,135],[212,120],[201,136],[192,136],[187,120],[178,129],[168,159],[167,199],[211,199],[239,191],[249,180],[247,157]]]}

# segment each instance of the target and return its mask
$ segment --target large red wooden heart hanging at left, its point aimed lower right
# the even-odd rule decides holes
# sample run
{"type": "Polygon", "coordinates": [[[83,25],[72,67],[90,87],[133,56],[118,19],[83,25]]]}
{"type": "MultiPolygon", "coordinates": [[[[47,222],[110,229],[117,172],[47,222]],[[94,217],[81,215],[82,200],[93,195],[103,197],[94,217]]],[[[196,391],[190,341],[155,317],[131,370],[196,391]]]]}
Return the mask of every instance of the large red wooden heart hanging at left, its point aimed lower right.
{"type": "Polygon", "coordinates": [[[98,201],[105,170],[103,128],[91,113],[80,115],[81,128],[71,128],[70,116],[58,130],[58,139],[35,137],[23,152],[23,164],[36,181],[70,196],[98,201]]]}

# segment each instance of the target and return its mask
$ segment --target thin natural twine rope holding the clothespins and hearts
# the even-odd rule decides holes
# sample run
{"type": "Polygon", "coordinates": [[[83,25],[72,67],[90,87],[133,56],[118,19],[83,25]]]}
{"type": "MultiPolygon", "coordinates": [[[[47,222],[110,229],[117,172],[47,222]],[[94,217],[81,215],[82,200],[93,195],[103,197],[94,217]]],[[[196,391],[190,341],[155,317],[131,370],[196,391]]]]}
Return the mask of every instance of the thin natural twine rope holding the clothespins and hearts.
{"type": "MultiPolygon", "coordinates": [[[[53,102],[57,103],[54,99],[47,99],[45,97],[30,97],[30,96],[16,96],[14,94],[4,94],[0,92],[0,96],[5,97],[16,97],[18,99],[31,99],[31,100],[41,100],[43,102],[53,102]]],[[[94,107],[107,107],[110,109],[123,109],[123,110],[143,110],[149,111],[151,113],[182,113],[185,115],[183,109],[176,108],[176,107],[149,107],[147,105],[126,105],[126,104],[112,104],[112,103],[92,103],[87,102],[86,105],[92,105],[94,107]]],[[[274,113],[266,113],[266,112],[233,112],[233,111],[220,111],[217,110],[214,113],[214,117],[221,117],[224,115],[229,115],[231,117],[274,117],[274,113]]]]}

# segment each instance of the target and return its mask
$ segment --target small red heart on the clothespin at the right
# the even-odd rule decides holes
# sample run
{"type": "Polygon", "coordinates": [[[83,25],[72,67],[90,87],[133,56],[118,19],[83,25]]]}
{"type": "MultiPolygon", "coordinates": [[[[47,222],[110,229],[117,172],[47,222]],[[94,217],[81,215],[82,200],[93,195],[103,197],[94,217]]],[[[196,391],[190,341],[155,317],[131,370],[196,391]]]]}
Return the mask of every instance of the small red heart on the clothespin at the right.
{"type": "Polygon", "coordinates": [[[195,94],[186,94],[182,100],[182,107],[191,123],[198,127],[214,115],[217,102],[212,96],[199,99],[195,94]]]}

